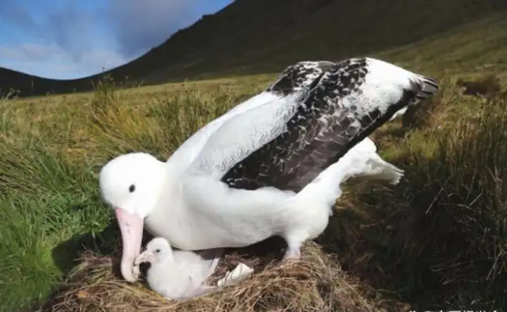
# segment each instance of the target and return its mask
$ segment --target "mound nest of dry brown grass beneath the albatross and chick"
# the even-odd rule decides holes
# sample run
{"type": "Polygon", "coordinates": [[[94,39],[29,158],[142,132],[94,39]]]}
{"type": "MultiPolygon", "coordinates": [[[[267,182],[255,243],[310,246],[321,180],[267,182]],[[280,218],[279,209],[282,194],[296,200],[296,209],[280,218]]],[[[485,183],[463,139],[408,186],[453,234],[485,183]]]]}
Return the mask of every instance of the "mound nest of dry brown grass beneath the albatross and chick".
{"type": "Polygon", "coordinates": [[[346,275],[318,245],[309,242],[301,261],[283,266],[278,261],[280,250],[256,246],[227,251],[210,277],[211,284],[239,261],[254,268],[253,275],[186,301],[164,299],[143,280],[125,282],[119,273],[118,252],[110,256],[87,252],[40,311],[394,311],[392,305],[387,308],[385,302],[368,299],[360,282],[346,275]]]}

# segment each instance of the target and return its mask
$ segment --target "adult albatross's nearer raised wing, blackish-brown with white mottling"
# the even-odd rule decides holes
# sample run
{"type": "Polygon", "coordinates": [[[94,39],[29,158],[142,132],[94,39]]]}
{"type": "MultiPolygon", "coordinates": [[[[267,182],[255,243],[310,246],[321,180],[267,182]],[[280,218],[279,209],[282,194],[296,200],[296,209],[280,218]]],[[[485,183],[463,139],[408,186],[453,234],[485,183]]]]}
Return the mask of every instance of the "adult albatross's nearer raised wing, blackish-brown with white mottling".
{"type": "Polygon", "coordinates": [[[299,192],[396,111],[437,89],[432,78],[373,58],[332,65],[276,136],[235,163],[221,180],[233,188],[299,192]]]}

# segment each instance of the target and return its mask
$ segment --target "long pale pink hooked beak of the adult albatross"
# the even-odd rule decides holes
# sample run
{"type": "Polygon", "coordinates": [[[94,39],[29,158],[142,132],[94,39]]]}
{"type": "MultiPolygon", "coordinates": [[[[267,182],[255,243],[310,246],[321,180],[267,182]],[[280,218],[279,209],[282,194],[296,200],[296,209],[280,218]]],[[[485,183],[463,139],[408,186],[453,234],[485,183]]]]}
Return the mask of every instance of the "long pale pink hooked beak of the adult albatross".
{"type": "Polygon", "coordinates": [[[115,208],[116,219],[120,225],[122,235],[121,273],[129,282],[137,280],[137,270],[134,273],[134,260],[141,252],[143,220],[135,213],[128,213],[125,209],[115,208]]]}

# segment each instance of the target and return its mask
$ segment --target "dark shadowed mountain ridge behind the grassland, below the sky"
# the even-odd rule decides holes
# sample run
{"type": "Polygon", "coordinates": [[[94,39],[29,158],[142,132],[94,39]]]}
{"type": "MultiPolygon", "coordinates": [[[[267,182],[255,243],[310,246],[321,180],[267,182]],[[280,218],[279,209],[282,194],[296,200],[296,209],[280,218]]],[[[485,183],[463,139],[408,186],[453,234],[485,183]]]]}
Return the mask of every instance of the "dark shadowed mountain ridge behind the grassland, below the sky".
{"type": "MultiPolygon", "coordinates": [[[[238,0],[163,44],[108,70],[115,81],[158,84],[277,72],[301,59],[337,60],[419,42],[507,8],[503,0],[238,0]]],[[[88,91],[102,75],[50,80],[0,68],[20,96],[88,91]]],[[[0,91],[1,91],[0,90],[0,91]]]]}

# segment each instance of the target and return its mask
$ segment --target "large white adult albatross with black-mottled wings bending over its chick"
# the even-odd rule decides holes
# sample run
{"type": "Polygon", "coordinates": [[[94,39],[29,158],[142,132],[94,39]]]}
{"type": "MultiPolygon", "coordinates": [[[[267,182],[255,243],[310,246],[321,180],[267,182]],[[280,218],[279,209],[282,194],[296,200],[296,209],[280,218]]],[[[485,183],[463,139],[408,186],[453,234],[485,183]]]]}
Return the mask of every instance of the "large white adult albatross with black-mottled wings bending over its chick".
{"type": "Polygon", "coordinates": [[[280,235],[285,258],[299,258],[302,242],[325,230],[343,180],[399,180],[365,138],[437,89],[430,77],[374,58],[298,63],[261,98],[201,128],[165,163],[144,153],[118,156],[99,183],[120,225],[123,277],[137,279],[132,264],[143,226],[185,250],[245,247],[280,235]]]}

